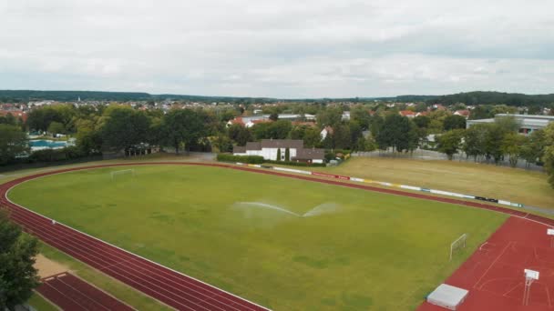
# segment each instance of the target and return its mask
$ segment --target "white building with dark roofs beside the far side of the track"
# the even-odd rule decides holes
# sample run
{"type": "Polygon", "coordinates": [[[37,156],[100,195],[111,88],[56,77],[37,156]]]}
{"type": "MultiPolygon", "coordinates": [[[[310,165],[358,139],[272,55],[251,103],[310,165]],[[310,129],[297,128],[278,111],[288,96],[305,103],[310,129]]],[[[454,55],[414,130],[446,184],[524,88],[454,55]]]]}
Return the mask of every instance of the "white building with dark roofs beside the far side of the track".
{"type": "Polygon", "coordinates": [[[263,156],[266,160],[285,161],[286,151],[289,161],[323,163],[325,151],[316,148],[304,148],[302,140],[296,139],[262,139],[260,142],[249,142],[246,146],[235,146],[234,156],[263,156]],[[278,159],[277,156],[281,157],[278,159]]]}

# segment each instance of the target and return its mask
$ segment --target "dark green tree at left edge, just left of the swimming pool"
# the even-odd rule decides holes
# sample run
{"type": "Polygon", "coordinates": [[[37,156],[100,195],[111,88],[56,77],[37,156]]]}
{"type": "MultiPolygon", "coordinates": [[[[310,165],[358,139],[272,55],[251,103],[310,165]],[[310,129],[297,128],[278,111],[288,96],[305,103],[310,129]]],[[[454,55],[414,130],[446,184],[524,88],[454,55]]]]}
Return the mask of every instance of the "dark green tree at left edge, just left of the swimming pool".
{"type": "Polygon", "coordinates": [[[26,134],[15,125],[0,125],[0,165],[29,152],[26,134]]]}

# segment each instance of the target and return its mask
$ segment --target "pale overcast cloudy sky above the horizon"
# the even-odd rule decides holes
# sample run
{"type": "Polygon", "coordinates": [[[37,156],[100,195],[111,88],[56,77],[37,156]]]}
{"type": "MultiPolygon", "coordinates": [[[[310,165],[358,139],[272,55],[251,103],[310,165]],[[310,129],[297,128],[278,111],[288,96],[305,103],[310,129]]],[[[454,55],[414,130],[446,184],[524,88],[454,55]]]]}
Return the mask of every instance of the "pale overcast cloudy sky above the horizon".
{"type": "Polygon", "coordinates": [[[552,0],[0,0],[0,89],[554,93],[552,0]]]}

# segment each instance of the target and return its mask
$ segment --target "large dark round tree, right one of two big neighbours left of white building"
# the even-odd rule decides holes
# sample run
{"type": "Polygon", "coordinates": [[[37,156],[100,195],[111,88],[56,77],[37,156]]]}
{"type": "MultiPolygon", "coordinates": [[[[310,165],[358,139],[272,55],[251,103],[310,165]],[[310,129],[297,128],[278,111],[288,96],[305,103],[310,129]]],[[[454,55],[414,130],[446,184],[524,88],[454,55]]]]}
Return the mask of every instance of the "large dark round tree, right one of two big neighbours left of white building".
{"type": "Polygon", "coordinates": [[[189,151],[190,145],[196,144],[206,133],[203,116],[191,109],[173,109],[164,115],[163,123],[166,141],[178,154],[180,145],[189,151]]]}

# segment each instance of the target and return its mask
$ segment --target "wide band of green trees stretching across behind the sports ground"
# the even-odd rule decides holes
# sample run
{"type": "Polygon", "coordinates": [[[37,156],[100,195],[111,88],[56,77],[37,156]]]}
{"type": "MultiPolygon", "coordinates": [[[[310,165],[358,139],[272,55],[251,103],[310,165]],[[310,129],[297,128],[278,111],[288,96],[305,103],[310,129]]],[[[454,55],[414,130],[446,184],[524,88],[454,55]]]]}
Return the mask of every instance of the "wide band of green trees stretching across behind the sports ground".
{"type": "MultiPolygon", "coordinates": [[[[501,108],[501,106],[500,106],[501,108]]],[[[231,152],[233,145],[246,145],[261,139],[301,139],[307,147],[329,150],[413,152],[430,148],[452,159],[460,153],[477,160],[498,164],[507,159],[512,166],[518,160],[545,164],[550,172],[548,130],[518,135],[512,118],[500,118],[492,124],[466,129],[466,119],[448,110],[426,111],[408,118],[399,107],[386,105],[275,105],[263,107],[270,120],[249,128],[241,124],[227,126],[237,115],[247,114],[248,105],[221,109],[174,108],[140,110],[128,105],[48,105],[35,108],[25,124],[14,117],[0,118],[0,165],[16,161],[28,153],[28,131],[72,135],[77,145],[67,148],[67,156],[92,156],[124,152],[143,154],[153,146],[171,147],[176,152],[231,152]],[[316,123],[280,120],[282,112],[316,115],[316,123]],[[344,117],[345,113],[349,117],[344,117]],[[325,129],[326,135],[322,135],[325,129]],[[436,141],[430,139],[436,135],[436,141]]],[[[57,158],[44,151],[38,159],[57,158]]],[[[40,155],[40,153],[34,153],[40,155]]],[[[63,157],[63,156],[62,156],[63,157]]]]}

